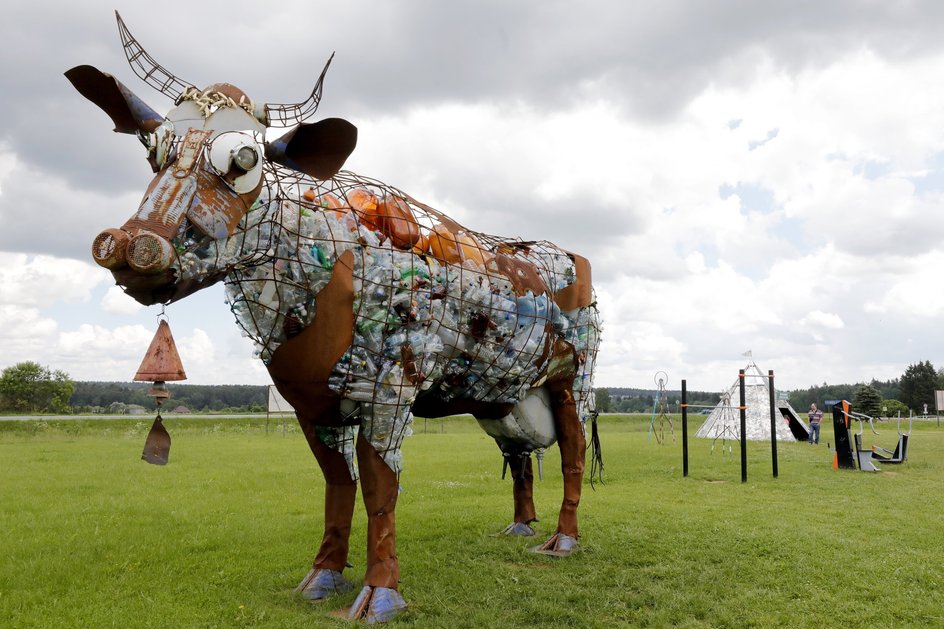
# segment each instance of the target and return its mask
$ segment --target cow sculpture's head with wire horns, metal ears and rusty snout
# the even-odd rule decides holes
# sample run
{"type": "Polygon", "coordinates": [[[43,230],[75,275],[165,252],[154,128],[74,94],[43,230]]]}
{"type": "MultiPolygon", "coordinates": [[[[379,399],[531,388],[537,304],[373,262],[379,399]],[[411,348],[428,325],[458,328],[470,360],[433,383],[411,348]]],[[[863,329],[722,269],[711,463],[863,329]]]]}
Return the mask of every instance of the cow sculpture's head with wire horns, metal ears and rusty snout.
{"type": "Polygon", "coordinates": [[[117,17],[135,74],[171,97],[175,107],[162,117],[92,66],[66,72],[75,88],[108,114],[116,132],[141,140],[156,173],[137,212],[120,228],[101,232],[92,256],[137,301],[169,303],[226,274],[220,268],[186,277],[178,254],[233,235],[259,198],[273,169],[269,162],[330,178],[354,150],[357,130],[340,118],[305,122],[318,108],[330,59],[304,102],[260,105],[233,85],[198,89],[178,79],[141,48],[117,17]],[[294,128],[282,137],[266,141],[269,127],[289,126],[294,128]]]}

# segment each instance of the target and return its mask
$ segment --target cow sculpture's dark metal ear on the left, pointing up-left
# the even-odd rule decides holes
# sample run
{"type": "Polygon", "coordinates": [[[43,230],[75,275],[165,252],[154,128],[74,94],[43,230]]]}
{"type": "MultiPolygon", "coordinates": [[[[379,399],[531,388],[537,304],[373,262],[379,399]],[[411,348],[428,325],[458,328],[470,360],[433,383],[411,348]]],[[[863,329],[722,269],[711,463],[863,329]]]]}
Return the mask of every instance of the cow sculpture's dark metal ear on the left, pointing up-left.
{"type": "Polygon", "coordinates": [[[66,78],[108,114],[119,133],[151,132],[164,120],[118,79],[98,68],[76,66],[66,72],[66,78]]]}

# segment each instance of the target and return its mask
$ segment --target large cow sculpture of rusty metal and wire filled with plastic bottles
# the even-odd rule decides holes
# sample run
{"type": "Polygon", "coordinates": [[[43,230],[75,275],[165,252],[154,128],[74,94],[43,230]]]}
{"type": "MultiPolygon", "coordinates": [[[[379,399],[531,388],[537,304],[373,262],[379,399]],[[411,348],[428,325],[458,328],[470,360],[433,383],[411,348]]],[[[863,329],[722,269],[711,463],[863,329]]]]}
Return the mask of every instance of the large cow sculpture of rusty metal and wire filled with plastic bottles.
{"type": "Polygon", "coordinates": [[[342,571],[359,478],[367,569],[349,617],[383,621],[406,606],[394,513],[413,413],[471,413],[496,439],[514,481],[510,534],[534,534],[530,455],[556,440],[564,499],[537,550],[569,554],[600,330],[589,263],[466,230],[340,171],[353,125],[305,122],[327,65],[306,101],[259,105],[232,85],[181,81],[118,25],[136,74],[176,106],[163,117],[111,75],[66,72],[115,131],[142,141],[156,173],[134,216],[92,253],[145,305],[225,283],[326,479],[324,537],[299,590],[320,600],[352,589],[342,571]],[[292,128],[267,140],[276,126],[292,128]]]}

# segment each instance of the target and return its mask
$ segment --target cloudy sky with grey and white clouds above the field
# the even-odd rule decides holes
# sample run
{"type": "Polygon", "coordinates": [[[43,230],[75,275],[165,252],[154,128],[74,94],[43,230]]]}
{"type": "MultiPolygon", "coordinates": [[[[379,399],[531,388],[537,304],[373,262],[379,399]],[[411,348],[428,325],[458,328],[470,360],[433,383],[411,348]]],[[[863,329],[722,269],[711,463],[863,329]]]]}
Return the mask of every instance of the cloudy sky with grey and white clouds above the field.
{"type": "MultiPolygon", "coordinates": [[[[780,388],[944,366],[944,4],[12,0],[0,21],[0,368],[130,380],[157,325],[91,261],[151,171],[62,73],[158,62],[359,129],[346,167],[593,264],[599,386],[780,388]]],[[[194,384],[268,383],[220,286],[168,308],[194,384]]]]}

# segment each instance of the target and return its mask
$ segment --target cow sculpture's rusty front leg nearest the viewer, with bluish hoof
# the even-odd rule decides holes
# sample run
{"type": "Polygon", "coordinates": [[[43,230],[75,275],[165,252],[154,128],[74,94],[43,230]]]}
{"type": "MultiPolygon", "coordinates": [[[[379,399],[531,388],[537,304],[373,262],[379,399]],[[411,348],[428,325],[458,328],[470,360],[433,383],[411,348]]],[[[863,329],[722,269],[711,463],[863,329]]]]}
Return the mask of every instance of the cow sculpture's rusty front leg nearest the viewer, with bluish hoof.
{"type": "Polygon", "coordinates": [[[357,439],[357,465],[367,509],[367,573],[364,588],[351,606],[348,618],[383,622],[406,608],[397,591],[400,564],[395,516],[399,481],[396,472],[363,434],[357,439]]]}

